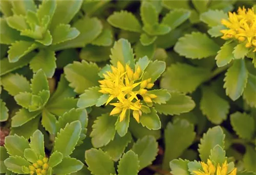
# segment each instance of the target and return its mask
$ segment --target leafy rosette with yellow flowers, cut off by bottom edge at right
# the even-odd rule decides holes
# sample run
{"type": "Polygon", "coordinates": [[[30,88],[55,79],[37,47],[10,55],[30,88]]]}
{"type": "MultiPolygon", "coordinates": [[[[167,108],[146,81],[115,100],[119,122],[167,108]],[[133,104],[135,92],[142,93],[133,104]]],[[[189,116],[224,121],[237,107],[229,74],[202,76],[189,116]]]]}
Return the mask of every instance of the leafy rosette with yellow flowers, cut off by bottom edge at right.
{"type": "Polygon", "coordinates": [[[227,169],[225,174],[255,174],[255,171],[238,169],[233,161],[228,161],[224,150],[224,138],[225,134],[219,126],[210,128],[200,140],[198,152],[201,162],[174,159],[169,163],[171,173],[174,175],[203,174],[211,170],[211,174],[218,174],[218,169],[227,169]]]}

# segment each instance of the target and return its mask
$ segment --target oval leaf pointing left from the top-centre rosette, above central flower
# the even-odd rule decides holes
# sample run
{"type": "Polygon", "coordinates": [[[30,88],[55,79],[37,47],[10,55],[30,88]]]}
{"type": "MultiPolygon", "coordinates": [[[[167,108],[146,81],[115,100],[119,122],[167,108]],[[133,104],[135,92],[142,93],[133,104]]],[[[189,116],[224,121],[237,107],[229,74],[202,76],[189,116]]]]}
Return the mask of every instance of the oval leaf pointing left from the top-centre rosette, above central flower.
{"type": "Polygon", "coordinates": [[[141,24],[131,12],[114,12],[108,17],[108,22],[119,29],[141,33],[141,24]]]}

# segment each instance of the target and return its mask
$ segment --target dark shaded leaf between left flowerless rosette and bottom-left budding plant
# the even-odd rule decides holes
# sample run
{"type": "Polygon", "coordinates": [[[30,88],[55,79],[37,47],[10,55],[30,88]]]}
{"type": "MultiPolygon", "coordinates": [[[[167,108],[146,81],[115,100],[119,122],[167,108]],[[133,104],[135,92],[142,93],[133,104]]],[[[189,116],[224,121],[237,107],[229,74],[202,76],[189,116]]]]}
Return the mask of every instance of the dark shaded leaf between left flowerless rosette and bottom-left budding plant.
{"type": "Polygon", "coordinates": [[[40,117],[36,117],[20,127],[11,128],[10,135],[18,134],[25,137],[27,140],[38,129],[40,117]]]}

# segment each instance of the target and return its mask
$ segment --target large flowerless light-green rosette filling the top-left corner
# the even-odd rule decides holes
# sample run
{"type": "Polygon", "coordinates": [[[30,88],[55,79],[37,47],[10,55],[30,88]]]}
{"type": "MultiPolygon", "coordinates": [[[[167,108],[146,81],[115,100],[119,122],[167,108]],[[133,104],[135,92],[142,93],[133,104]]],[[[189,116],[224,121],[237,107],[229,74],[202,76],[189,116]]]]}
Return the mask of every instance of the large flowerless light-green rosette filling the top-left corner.
{"type": "Polygon", "coordinates": [[[110,45],[111,32],[103,31],[97,18],[83,17],[70,26],[82,3],[81,0],[44,0],[37,8],[33,0],[3,2],[1,10],[5,18],[1,18],[1,43],[11,44],[9,61],[17,62],[39,49],[31,58],[30,68],[34,72],[41,68],[51,78],[56,68],[55,51],[83,47],[91,42],[110,45]]]}

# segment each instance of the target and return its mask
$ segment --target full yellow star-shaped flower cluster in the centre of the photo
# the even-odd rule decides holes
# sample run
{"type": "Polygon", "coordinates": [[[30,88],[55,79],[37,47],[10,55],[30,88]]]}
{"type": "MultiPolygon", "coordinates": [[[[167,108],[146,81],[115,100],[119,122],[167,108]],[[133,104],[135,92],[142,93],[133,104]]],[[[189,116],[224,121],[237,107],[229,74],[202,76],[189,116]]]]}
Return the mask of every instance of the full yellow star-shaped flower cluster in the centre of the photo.
{"type": "Polygon", "coordinates": [[[137,95],[141,95],[147,104],[151,104],[152,99],[157,97],[147,93],[146,89],[151,89],[154,83],[151,79],[141,80],[142,74],[140,66],[133,71],[128,64],[124,67],[120,62],[117,62],[117,67],[111,66],[111,70],[103,74],[104,80],[99,81],[99,92],[109,94],[105,105],[116,101],[110,103],[115,106],[110,115],[119,114],[119,120],[122,121],[127,110],[133,110],[133,117],[139,122],[143,105],[137,95]]]}

